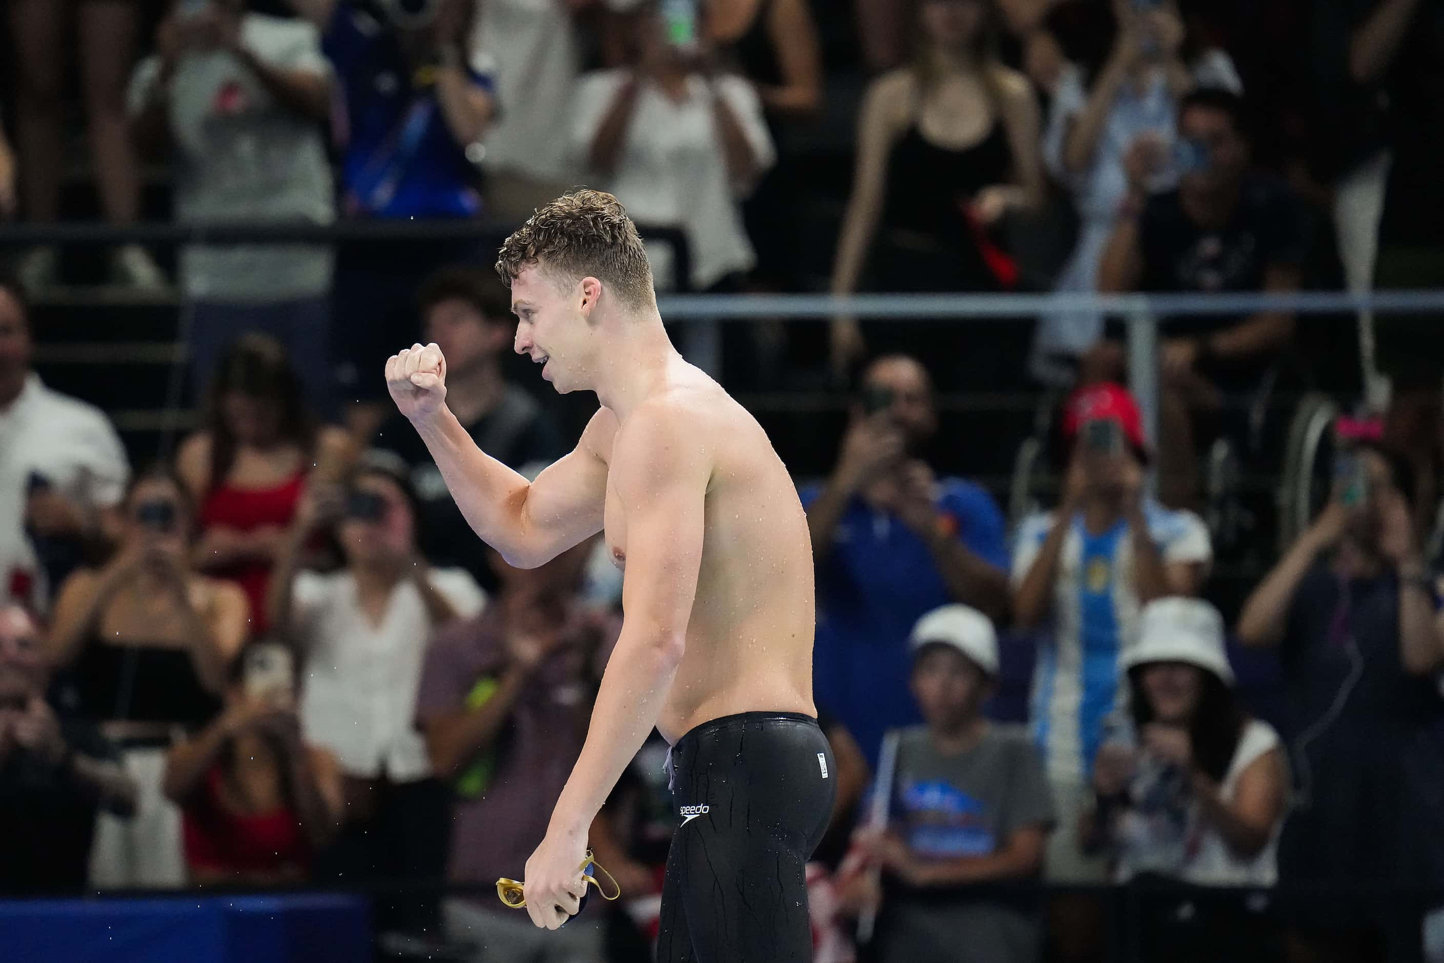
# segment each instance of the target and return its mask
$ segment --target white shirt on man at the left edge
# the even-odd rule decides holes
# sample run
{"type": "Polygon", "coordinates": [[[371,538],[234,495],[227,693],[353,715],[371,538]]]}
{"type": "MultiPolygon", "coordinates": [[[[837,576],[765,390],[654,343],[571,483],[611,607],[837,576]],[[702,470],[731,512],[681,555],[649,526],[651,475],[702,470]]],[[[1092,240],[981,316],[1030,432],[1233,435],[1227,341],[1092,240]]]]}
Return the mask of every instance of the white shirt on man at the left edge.
{"type": "Polygon", "coordinates": [[[126,494],[130,463],[100,409],[52,391],[38,374],[0,409],[0,602],[43,608],[53,586],[45,585],[25,534],[32,472],[79,505],[110,508],[126,494]],[[13,593],[23,585],[33,586],[29,598],[13,593]]]}

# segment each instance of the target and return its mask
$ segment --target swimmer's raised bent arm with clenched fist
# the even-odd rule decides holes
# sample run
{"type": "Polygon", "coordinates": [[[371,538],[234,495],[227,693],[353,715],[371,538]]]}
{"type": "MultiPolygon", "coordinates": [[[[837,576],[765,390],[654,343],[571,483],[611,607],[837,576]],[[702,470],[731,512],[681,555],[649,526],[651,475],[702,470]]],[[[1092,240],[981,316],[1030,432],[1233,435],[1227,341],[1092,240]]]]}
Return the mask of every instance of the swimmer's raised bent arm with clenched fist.
{"type": "Polygon", "coordinates": [[[446,407],[446,360],[435,344],[412,345],[386,362],[386,387],[436,461],[456,507],[508,565],[531,569],[602,530],[606,462],[617,432],[606,409],[582,439],[534,482],[491,458],[446,407]]]}

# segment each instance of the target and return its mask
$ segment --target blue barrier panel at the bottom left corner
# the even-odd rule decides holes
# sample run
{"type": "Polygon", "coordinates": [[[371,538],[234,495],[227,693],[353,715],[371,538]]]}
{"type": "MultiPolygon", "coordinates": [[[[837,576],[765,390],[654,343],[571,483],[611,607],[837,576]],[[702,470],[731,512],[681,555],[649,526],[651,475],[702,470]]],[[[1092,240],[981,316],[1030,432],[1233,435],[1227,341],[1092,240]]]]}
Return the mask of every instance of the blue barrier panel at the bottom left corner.
{"type": "Polygon", "coordinates": [[[370,907],[341,895],[0,902],[6,963],[355,963],[370,907]]]}

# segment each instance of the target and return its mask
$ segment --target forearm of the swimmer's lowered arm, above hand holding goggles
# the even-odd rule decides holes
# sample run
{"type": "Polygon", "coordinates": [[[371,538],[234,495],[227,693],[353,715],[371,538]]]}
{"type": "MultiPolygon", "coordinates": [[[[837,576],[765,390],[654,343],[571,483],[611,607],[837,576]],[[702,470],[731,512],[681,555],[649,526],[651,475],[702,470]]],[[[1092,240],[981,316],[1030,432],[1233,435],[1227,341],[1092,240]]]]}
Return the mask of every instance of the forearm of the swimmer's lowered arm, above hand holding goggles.
{"type": "Polygon", "coordinates": [[[582,755],[552,811],[547,835],[586,835],[617,780],[657,725],[680,661],[680,640],[641,638],[622,627],[602,674],[582,755]]]}

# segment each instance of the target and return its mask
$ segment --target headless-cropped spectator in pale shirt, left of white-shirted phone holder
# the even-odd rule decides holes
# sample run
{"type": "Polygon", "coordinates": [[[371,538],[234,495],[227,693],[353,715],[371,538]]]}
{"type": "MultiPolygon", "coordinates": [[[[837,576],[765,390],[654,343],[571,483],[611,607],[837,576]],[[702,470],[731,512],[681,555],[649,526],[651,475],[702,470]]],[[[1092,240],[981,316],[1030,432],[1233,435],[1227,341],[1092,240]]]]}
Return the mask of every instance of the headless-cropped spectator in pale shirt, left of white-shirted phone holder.
{"type": "Polygon", "coordinates": [[[582,69],[586,3],[487,0],[478,3],[471,49],[490,59],[497,116],[487,128],[487,214],[520,224],[566,192],[579,173],[570,131],[557,118],[573,110],[582,69]]]}

